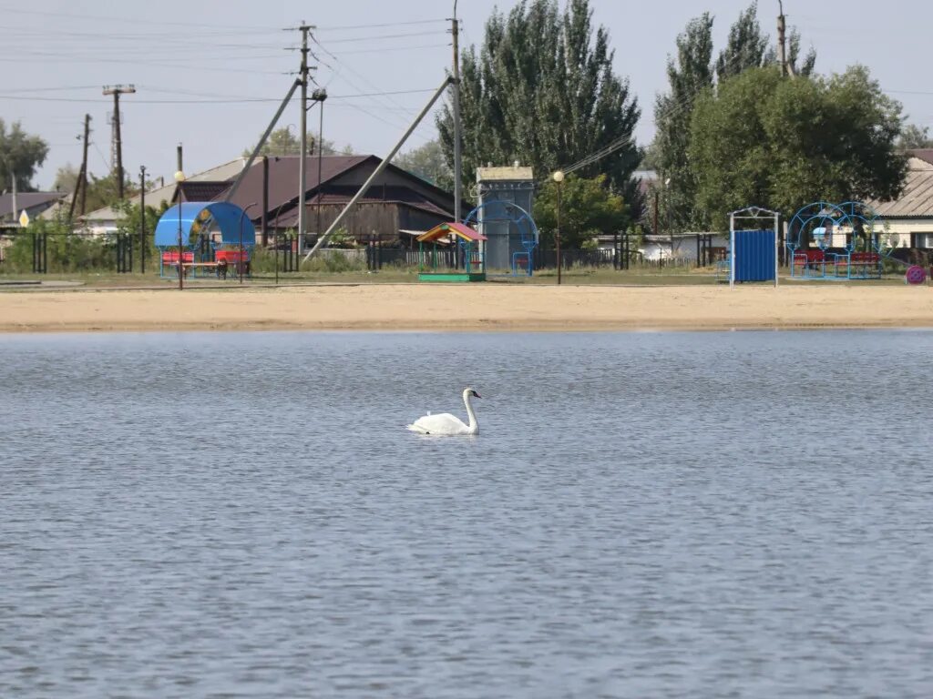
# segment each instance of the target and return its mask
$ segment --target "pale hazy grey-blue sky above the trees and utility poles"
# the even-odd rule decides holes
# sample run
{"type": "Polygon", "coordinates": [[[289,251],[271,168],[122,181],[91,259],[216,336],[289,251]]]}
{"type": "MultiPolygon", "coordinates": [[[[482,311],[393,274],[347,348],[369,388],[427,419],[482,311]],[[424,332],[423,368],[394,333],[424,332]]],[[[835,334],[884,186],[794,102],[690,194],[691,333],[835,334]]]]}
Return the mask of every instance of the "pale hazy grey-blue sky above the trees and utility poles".
{"type": "MultiPolygon", "coordinates": [[[[461,45],[482,42],[495,7],[514,0],[459,0],[461,45]]],[[[562,7],[564,0],[561,0],[562,7]]],[[[640,144],[654,134],[655,96],[687,22],[710,11],[716,50],[748,0],[591,0],[593,21],[610,34],[615,70],[642,108],[640,144]]],[[[820,73],[867,65],[882,89],[904,104],[910,121],[933,127],[933,78],[927,71],[933,3],[888,0],[785,0],[788,26],[817,51],[820,73]]],[[[302,21],[315,27],[314,87],[329,95],[323,132],[356,153],[386,155],[451,65],[453,0],[0,0],[0,118],[20,121],[49,143],[34,184],[50,188],[56,171],[81,160],[80,133],[91,115],[89,170],[110,168],[112,97],[105,85],[130,85],[120,100],[124,169],[170,180],[175,147],[185,171],[238,158],[269,124],[299,66],[302,21]]],[[[759,20],[774,36],[777,0],[759,0],[759,20]]],[[[318,106],[308,114],[319,126],[318,106]]],[[[298,97],[278,126],[299,132],[298,97]]],[[[426,117],[402,151],[437,135],[426,117]]]]}

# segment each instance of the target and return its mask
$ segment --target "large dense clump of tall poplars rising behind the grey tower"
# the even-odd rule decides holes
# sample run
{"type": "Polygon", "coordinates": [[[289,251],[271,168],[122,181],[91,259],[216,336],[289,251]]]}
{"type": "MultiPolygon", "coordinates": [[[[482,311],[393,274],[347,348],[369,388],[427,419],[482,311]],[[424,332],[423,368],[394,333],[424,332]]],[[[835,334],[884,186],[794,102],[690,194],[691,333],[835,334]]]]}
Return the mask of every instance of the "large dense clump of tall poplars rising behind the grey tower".
{"type": "MultiPolygon", "coordinates": [[[[589,0],[522,0],[486,22],[482,46],[461,56],[463,172],[515,160],[545,177],[606,148],[620,147],[581,174],[634,201],[640,154],[632,133],[641,113],[628,81],[613,69],[605,27],[594,28],[589,0]]],[[[442,108],[440,143],[453,170],[453,115],[442,108]]]]}

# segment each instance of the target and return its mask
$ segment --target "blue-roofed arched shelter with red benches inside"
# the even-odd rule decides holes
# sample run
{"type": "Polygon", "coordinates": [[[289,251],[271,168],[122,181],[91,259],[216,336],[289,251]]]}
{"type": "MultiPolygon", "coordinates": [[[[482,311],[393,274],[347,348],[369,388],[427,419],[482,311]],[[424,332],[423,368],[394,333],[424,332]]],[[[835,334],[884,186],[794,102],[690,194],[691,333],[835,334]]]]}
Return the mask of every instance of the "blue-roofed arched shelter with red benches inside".
{"type": "Polygon", "coordinates": [[[227,201],[185,201],[164,212],[156,224],[159,276],[249,276],[256,228],[245,212],[227,201]],[[179,240],[180,238],[180,240],[179,240]]]}

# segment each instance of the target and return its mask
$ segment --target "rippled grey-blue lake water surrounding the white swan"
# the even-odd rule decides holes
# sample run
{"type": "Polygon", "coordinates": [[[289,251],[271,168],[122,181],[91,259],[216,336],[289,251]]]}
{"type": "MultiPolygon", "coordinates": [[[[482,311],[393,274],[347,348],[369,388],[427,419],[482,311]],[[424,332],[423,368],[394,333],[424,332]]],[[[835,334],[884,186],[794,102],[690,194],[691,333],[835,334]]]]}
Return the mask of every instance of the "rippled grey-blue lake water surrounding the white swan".
{"type": "Polygon", "coordinates": [[[928,697],[931,357],[0,336],[0,697],[928,697]]]}

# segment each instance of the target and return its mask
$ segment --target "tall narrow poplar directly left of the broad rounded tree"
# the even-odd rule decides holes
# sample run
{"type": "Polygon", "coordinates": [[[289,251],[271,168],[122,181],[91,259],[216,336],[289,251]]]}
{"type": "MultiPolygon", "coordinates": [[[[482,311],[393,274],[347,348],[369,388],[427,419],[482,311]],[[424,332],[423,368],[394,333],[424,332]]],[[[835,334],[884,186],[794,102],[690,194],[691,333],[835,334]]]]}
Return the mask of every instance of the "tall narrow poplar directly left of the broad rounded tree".
{"type": "MultiPolygon", "coordinates": [[[[689,228],[696,218],[696,173],[688,160],[690,117],[693,105],[713,87],[713,18],[706,12],[689,21],[677,36],[676,60],[668,59],[667,79],[670,91],[655,101],[654,120],[657,133],[653,150],[661,181],[670,183],[663,197],[661,220],[673,230],[689,228]]],[[[657,233],[657,231],[654,231],[657,233]]]]}

